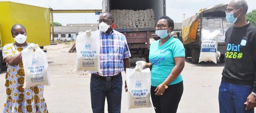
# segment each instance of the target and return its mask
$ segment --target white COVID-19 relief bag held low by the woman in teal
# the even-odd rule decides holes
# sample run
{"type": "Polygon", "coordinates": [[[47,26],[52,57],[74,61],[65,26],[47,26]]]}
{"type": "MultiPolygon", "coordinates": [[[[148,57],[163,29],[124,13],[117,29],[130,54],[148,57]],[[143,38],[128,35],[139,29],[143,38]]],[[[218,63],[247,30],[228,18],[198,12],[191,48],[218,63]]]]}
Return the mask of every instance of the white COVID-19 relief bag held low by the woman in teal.
{"type": "Polygon", "coordinates": [[[151,72],[149,68],[141,72],[126,68],[126,83],[128,88],[128,109],[152,107],[150,101],[151,72]]]}

